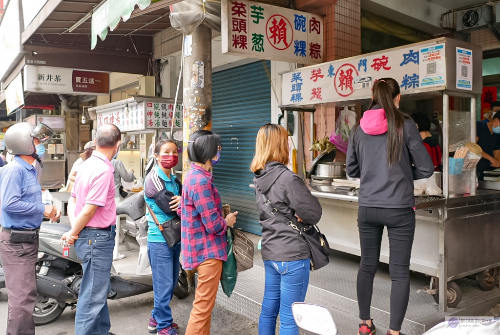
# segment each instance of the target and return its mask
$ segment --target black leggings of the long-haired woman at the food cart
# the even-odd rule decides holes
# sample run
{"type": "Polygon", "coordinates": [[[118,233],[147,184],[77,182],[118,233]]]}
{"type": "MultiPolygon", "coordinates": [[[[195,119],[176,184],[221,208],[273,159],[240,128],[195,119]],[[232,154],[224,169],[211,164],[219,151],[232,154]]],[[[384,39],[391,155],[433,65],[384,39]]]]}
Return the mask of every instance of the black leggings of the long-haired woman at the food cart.
{"type": "Polygon", "coordinates": [[[383,227],[389,236],[390,329],[401,330],[409,299],[409,259],[415,234],[412,208],[375,208],[359,206],[357,215],[361,263],[357,272],[359,318],[370,319],[373,277],[380,258],[383,227]]]}

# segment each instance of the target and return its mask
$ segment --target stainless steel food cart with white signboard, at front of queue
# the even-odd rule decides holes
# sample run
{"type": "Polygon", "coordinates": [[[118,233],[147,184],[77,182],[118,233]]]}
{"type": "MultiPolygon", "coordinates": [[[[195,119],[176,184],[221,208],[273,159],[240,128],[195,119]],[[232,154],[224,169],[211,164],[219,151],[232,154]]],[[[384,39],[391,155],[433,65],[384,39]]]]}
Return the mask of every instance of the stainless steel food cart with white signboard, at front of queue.
{"type": "MultiPolygon", "coordinates": [[[[500,192],[476,190],[474,168],[457,173],[448,164],[454,163],[450,153],[476,141],[481,62],[481,47],[440,38],[281,74],[283,111],[321,105],[366,110],[374,81],[384,77],[400,84],[403,112],[405,106],[416,110],[430,106],[427,112],[437,111],[442,128],[443,195],[415,196],[410,269],[430,276],[424,290],[434,295],[441,311],[460,301],[460,288],[452,280],[478,273],[479,285],[489,290],[500,265],[500,243],[496,241],[500,236],[500,192]]],[[[311,180],[306,182],[323,208],[318,223],[321,231],[332,249],[360,255],[355,190],[342,191],[332,180],[315,179],[313,170],[314,166],[311,180]]],[[[384,236],[380,261],[388,260],[388,239],[384,236]]]]}

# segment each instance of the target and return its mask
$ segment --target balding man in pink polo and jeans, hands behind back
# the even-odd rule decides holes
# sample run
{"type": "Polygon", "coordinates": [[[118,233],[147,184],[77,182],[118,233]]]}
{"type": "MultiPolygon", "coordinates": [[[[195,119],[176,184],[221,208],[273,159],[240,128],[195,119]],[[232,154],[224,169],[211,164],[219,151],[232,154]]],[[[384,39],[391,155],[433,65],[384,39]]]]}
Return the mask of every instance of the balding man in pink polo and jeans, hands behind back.
{"type": "Polygon", "coordinates": [[[61,239],[74,244],[83,268],[75,335],[111,334],[106,297],[113,261],[116,205],[110,161],[119,151],[120,140],[121,133],[114,125],[106,124],[97,130],[95,151],[80,166],[67,205],[71,230],[61,239]]]}

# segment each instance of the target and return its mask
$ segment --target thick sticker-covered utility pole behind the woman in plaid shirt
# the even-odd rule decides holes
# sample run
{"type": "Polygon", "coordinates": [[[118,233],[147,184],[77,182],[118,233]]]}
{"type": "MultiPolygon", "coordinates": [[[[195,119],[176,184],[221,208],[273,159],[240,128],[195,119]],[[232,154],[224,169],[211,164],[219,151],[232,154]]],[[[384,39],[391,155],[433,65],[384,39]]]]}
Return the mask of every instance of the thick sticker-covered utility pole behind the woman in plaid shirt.
{"type": "Polygon", "coordinates": [[[186,45],[184,49],[182,179],[191,165],[187,156],[189,137],[197,130],[212,129],[211,29],[199,25],[185,39],[191,46],[186,45]]]}

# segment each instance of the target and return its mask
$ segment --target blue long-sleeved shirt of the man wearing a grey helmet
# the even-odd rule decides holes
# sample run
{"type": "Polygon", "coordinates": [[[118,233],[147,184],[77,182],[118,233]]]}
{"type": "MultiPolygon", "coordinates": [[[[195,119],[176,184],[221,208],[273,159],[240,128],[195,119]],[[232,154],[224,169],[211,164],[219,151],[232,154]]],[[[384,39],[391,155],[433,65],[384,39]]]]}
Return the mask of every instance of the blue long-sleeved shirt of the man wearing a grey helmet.
{"type": "Polygon", "coordinates": [[[0,224],[4,228],[27,229],[40,226],[45,212],[36,170],[14,156],[0,179],[0,224]]]}

